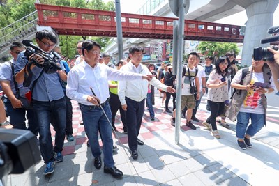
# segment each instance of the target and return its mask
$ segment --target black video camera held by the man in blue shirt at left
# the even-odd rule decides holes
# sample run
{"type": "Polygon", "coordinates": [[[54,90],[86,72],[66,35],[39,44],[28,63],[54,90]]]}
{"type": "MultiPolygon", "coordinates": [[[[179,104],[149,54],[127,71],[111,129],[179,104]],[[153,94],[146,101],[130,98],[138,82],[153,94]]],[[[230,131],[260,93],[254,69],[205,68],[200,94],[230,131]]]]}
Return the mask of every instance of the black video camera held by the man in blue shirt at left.
{"type": "Polygon", "coordinates": [[[57,70],[61,70],[61,67],[57,65],[57,63],[61,60],[61,56],[59,56],[59,54],[53,51],[45,52],[34,45],[31,40],[22,40],[22,44],[27,47],[27,50],[24,53],[24,56],[27,57],[27,59],[29,59],[32,54],[38,54],[43,57],[43,64],[38,63],[36,60],[32,60],[32,63],[38,66],[38,68],[43,68],[45,73],[52,74],[57,72],[57,70]]]}

